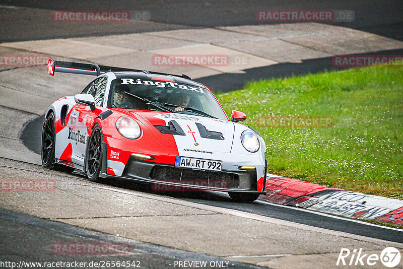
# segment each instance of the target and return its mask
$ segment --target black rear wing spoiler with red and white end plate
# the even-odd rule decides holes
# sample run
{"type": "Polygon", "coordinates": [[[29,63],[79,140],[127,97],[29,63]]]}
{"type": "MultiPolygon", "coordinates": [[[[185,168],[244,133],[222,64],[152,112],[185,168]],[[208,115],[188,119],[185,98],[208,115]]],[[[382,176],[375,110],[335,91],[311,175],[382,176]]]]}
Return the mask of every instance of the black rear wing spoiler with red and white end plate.
{"type": "Polygon", "coordinates": [[[55,61],[53,59],[49,59],[47,62],[47,73],[50,76],[54,76],[55,72],[59,73],[70,73],[70,74],[80,74],[80,75],[92,75],[92,76],[99,76],[106,72],[143,72],[145,74],[152,73],[157,75],[169,75],[169,76],[176,76],[182,77],[184,79],[191,80],[188,76],[182,74],[173,75],[173,74],[166,74],[166,73],[159,73],[159,72],[149,72],[147,70],[137,70],[137,69],[128,69],[128,68],[118,68],[115,66],[106,66],[106,65],[98,65],[96,63],[81,63],[81,62],[70,62],[70,61],[55,61]]]}

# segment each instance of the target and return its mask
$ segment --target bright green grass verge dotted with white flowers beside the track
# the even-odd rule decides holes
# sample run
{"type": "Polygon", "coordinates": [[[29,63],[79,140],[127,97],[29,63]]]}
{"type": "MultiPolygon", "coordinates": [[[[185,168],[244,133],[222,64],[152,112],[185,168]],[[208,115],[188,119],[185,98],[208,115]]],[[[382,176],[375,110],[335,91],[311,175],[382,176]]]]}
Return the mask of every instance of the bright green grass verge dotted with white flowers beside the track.
{"type": "Polygon", "coordinates": [[[260,132],[269,173],[403,199],[402,67],[261,80],[217,98],[260,132]],[[332,117],[334,125],[267,127],[268,116],[332,117]]]}

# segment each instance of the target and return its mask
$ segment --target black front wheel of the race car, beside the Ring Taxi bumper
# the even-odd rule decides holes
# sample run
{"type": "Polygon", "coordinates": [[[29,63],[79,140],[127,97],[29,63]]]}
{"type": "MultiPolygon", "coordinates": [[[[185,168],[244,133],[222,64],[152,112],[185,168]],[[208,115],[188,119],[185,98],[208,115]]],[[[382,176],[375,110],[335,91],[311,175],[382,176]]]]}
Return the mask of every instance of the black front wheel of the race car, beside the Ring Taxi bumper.
{"type": "Polygon", "coordinates": [[[101,127],[96,124],[88,139],[87,150],[85,153],[85,167],[87,177],[91,181],[99,179],[99,171],[102,168],[101,145],[103,142],[101,127]]]}

